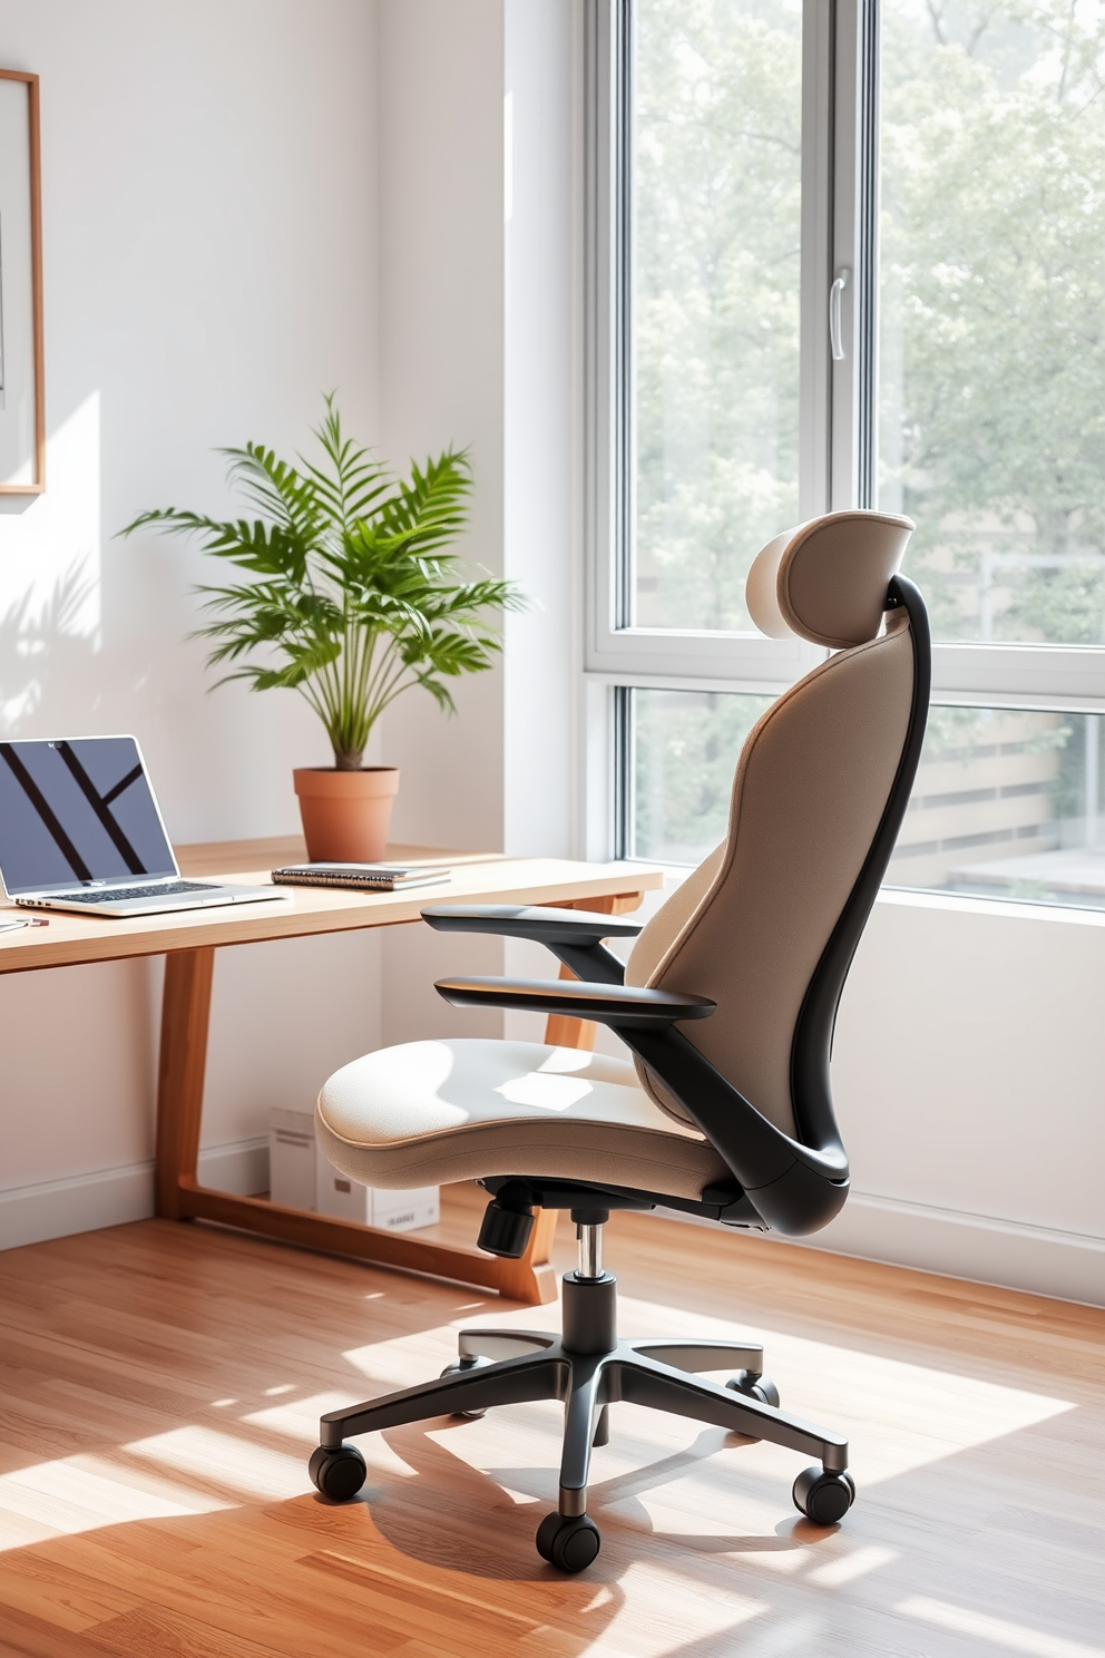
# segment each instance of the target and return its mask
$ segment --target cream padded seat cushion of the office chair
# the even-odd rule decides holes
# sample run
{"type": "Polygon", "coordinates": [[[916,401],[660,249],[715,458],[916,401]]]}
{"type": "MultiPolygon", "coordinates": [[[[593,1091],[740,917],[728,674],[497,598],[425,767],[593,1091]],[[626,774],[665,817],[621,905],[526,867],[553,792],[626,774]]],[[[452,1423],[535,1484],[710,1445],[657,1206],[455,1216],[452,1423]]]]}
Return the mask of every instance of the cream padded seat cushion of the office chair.
{"type": "Polygon", "coordinates": [[[318,1142],[364,1185],[532,1174],[696,1199],[729,1169],[664,1116],[625,1059],[457,1038],[381,1048],[330,1078],[318,1142]]]}

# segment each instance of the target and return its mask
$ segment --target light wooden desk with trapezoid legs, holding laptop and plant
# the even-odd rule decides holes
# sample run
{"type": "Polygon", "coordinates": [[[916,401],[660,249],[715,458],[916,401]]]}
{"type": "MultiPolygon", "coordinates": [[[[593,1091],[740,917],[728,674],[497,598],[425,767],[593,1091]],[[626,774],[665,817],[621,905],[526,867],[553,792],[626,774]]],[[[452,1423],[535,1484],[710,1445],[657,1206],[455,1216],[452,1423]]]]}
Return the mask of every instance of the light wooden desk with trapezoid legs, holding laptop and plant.
{"type": "MultiPolygon", "coordinates": [[[[48,927],[0,933],[0,973],[27,973],[136,955],[166,957],[157,1068],[156,1207],[171,1220],[215,1220],[263,1237],[388,1267],[456,1278],[499,1290],[520,1302],[552,1302],[557,1283],[548,1265],[555,1214],[538,1214],[522,1260],[497,1260],[475,1248],[429,1242],[414,1234],[378,1232],[258,1197],[217,1192],[197,1179],[204,1111],[207,1023],[215,950],[270,938],[398,927],[421,920],[427,904],[557,904],[608,915],[633,910],[663,884],[658,869],[631,864],[575,864],[562,859],[474,857],[426,847],[391,847],[403,862],[449,864],[447,884],[401,894],[290,889],[290,904],[227,905],[129,920],[50,914],[48,927]]],[[[277,864],[305,859],[300,841],[235,841],[179,847],[181,870],[194,877],[267,882],[277,864]]],[[[567,975],[567,970],[562,968],[567,975]]],[[[567,975],[570,977],[570,975],[567,975]]],[[[581,1020],[553,1018],[548,1041],[590,1048],[595,1030],[581,1020]]],[[[321,1084],[323,1078],[320,1078],[321,1084]]]]}

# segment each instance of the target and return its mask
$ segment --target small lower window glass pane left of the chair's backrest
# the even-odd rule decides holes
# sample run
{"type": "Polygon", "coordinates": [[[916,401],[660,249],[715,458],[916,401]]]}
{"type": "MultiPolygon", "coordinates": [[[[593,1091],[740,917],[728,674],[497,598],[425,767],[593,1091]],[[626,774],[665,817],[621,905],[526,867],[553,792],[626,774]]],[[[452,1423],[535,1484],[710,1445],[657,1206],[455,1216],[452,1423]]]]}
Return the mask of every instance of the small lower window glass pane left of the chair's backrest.
{"type": "Polygon", "coordinates": [[[744,739],[770,696],[631,691],[630,857],[701,864],[724,839],[744,739]]]}

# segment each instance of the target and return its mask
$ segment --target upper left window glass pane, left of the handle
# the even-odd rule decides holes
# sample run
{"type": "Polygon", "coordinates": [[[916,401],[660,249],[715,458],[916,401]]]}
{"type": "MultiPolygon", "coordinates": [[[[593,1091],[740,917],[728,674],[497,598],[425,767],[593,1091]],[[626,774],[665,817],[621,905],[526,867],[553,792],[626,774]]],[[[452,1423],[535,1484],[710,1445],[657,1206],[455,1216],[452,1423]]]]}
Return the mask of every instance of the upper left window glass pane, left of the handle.
{"type": "Polygon", "coordinates": [[[799,516],[800,0],[638,0],[638,627],[750,630],[744,579],[799,516]]]}

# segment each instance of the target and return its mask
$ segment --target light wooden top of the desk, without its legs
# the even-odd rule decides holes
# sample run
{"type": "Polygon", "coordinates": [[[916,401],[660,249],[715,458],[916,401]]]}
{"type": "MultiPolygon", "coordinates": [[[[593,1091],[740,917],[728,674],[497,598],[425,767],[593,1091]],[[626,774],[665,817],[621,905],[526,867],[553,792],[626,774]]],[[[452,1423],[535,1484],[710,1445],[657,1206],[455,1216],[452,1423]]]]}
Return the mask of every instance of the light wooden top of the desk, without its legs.
{"type": "MultiPolygon", "coordinates": [[[[265,884],[278,864],[305,861],[298,839],[215,841],[177,847],[181,874],[265,884]]],[[[81,962],[118,962],[134,955],[164,955],[212,945],[258,943],[306,933],[350,932],[414,922],[427,904],[557,904],[646,892],[663,885],[663,872],[643,864],[581,864],[555,857],[510,859],[497,854],[446,852],[393,846],[396,862],[447,864],[452,877],[408,892],[335,892],[290,887],[292,902],[235,904],[212,910],[111,919],[48,912],[48,927],[0,933],[0,973],[81,962]]],[[[28,910],[0,909],[0,917],[28,910]]],[[[46,915],[45,910],[35,912],[46,915]]]]}

